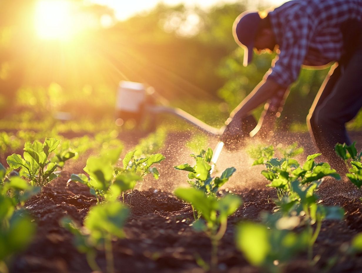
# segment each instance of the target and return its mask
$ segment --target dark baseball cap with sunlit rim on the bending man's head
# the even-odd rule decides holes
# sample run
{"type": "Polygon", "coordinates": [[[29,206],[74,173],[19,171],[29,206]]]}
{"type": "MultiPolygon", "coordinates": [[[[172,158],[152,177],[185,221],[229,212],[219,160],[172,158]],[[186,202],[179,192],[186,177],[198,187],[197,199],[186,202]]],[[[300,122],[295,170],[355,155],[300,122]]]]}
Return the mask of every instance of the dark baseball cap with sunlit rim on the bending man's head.
{"type": "Polygon", "coordinates": [[[236,43],[244,47],[243,65],[247,66],[253,58],[254,40],[261,18],[256,11],[245,11],[236,17],[232,33],[236,43]]]}

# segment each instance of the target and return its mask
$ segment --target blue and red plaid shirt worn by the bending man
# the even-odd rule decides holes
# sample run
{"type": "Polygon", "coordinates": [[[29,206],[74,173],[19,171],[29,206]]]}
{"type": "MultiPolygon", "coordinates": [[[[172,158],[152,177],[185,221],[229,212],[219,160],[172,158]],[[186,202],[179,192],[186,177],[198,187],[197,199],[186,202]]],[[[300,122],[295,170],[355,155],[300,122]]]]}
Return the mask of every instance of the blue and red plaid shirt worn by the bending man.
{"type": "Polygon", "coordinates": [[[289,86],[302,65],[338,61],[343,51],[340,26],[362,21],[362,0],[294,0],[269,12],[280,53],[266,76],[289,86]]]}

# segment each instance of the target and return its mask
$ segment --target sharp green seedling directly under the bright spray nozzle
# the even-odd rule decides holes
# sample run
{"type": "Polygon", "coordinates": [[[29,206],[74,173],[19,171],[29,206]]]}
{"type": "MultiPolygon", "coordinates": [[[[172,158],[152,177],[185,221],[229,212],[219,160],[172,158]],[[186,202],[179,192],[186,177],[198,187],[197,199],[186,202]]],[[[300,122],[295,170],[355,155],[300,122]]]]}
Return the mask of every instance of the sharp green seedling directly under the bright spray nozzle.
{"type": "Polygon", "coordinates": [[[212,149],[208,148],[206,151],[201,150],[200,154],[195,156],[190,155],[196,161],[196,164],[191,167],[189,164],[181,164],[174,166],[176,170],[188,171],[187,182],[195,189],[202,190],[206,195],[215,196],[220,187],[223,186],[236,171],[234,167],[227,168],[223,171],[220,177],[211,177],[211,158],[212,149]]]}

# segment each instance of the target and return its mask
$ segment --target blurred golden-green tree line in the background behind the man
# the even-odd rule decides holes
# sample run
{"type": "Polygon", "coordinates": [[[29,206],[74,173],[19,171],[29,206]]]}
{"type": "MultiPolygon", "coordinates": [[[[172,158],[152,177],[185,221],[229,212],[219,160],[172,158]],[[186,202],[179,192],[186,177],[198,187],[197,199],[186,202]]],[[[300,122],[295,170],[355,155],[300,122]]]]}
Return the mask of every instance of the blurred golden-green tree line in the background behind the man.
{"type": "MultiPolygon", "coordinates": [[[[248,9],[247,0],[208,10],[158,4],[125,21],[115,21],[107,7],[72,1],[92,18],[92,27],[67,43],[36,37],[31,11],[37,0],[0,2],[2,116],[17,109],[17,92],[23,104],[31,101],[40,112],[56,107],[79,115],[105,115],[121,80],[146,83],[170,101],[189,106],[192,101],[190,107],[197,108],[199,101],[225,101],[223,111],[230,112],[262,79],[274,57],[255,56],[251,65],[242,66],[243,50],[231,28],[237,15],[248,9]],[[104,16],[114,24],[102,25],[104,16]]],[[[269,7],[260,3],[260,10],[269,7]]],[[[327,71],[302,70],[283,118],[305,121],[327,71]]]]}

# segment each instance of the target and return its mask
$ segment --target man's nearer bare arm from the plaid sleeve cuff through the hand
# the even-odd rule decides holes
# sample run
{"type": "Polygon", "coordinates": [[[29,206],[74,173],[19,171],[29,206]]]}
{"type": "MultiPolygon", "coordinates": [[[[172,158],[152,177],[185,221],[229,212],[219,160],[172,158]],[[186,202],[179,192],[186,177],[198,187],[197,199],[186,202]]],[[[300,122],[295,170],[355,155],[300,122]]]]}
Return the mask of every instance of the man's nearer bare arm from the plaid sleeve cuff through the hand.
{"type": "Polygon", "coordinates": [[[248,115],[253,109],[260,104],[273,98],[280,90],[287,90],[287,87],[282,87],[274,80],[262,80],[254,90],[231,112],[230,118],[226,121],[226,129],[222,139],[228,140],[240,133],[241,119],[248,115]]]}

